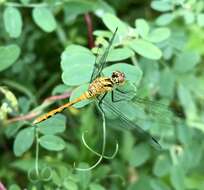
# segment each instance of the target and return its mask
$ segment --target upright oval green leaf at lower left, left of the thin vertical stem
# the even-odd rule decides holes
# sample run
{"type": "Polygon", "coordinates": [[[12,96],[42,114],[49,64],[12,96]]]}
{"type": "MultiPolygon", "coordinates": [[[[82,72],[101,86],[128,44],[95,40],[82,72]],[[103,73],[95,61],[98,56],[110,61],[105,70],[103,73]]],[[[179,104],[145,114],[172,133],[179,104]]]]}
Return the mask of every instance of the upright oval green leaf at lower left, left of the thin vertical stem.
{"type": "Polygon", "coordinates": [[[14,154],[16,156],[21,156],[24,152],[26,152],[32,146],[34,136],[35,133],[33,127],[21,130],[14,141],[14,154]]]}

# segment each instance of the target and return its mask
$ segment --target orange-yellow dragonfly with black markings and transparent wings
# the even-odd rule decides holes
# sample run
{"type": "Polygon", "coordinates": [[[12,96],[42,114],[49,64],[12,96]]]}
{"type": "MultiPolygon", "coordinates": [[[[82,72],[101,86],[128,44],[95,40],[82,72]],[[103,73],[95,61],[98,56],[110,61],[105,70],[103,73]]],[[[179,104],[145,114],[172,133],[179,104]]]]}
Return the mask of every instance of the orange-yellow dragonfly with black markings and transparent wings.
{"type": "Polygon", "coordinates": [[[126,82],[126,76],[124,72],[121,71],[114,71],[112,72],[111,77],[106,77],[103,76],[103,69],[106,65],[106,60],[109,54],[109,51],[112,47],[113,41],[116,37],[118,28],[114,31],[111,39],[108,42],[107,48],[105,48],[103,54],[100,56],[100,59],[97,60],[94,64],[94,69],[92,71],[91,79],[90,79],[90,85],[88,87],[88,90],[84,92],[81,96],[78,98],[48,112],[45,113],[44,115],[41,115],[37,117],[34,121],[33,124],[38,124],[53,115],[62,112],[63,110],[73,106],[74,104],[81,102],[83,100],[91,99],[91,98],[96,98],[98,102],[98,106],[100,109],[103,111],[104,106],[107,107],[111,112],[113,112],[118,118],[119,121],[121,121],[121,124],[125,127],[128,126],[128,128],[131,128],[135,131],[136,135],[143,139],[147,140],[150,142],[151,145],[153,145],[156,148],[161,148],[161,145],[159,142],[150,135],[146,130],[142,129],[138,124],[135,122],[131,121],[125,114],[120,112],[120,109],[118,109],[116,106],[114,106],[114,103],[117,104],[117,102],[121,100],[116,100],[114,98],[114,92],[118,91],[121,94],[124,94],[126,92],[121,91],[118,87],[123,86],[126,82]],[[105,97],[107,94],[111,94],[111,101],[112,103],[108,103],[105,100],[105,97]]]}

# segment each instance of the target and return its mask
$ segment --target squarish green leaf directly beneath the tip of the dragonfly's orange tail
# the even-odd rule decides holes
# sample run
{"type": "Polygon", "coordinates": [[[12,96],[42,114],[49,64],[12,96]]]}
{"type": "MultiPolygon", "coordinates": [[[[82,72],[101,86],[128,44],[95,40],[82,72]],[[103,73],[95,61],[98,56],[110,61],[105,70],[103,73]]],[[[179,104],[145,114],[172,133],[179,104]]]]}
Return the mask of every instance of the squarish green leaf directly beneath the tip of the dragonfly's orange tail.
{"type": "Polygon", "coordinates": [[[65,131],[65,117],[61,114],[42,121],[37,124],[38,130],[45,135],[53,135],[65,131]]]}

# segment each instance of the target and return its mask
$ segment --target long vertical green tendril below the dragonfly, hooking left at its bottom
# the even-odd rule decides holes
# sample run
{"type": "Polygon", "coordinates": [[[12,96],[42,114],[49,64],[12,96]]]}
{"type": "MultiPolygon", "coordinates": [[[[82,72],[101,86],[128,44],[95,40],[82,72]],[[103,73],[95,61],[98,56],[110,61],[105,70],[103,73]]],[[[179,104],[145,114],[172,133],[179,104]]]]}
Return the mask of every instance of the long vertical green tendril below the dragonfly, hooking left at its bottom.
{"type": "MultiPolygon", "coordinates": [[[[75,168],[78,171],[90,171],[90,170],[94,169],[96,166],[98,166],[100,164],[100,162],[102,161],[102,159],[104,158],[104,153],[105,153],[105,148],[106,148],[106,120],[105,120],[105,114],[104,114],[103,110],[101,108],[99,108],[99,110],[102,114],[102,120],[103,120],[102,152],[101,152],[101,154],[99,154],[100,157],[95,164],[93,164],[91,167],[88,167],[88,168],[75,168]]],[[[75,163],[74,163],[74,166],[75,166],[75,163]]]]}

